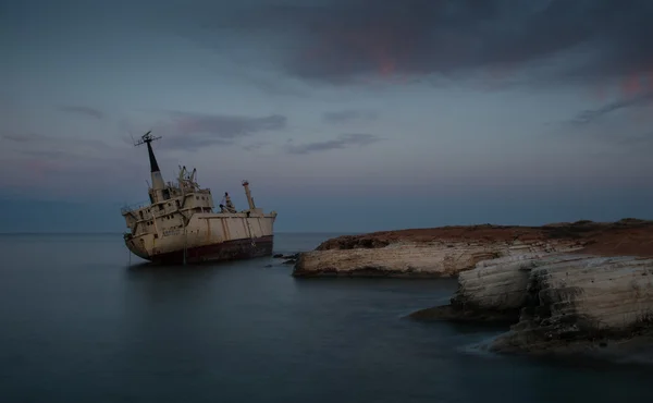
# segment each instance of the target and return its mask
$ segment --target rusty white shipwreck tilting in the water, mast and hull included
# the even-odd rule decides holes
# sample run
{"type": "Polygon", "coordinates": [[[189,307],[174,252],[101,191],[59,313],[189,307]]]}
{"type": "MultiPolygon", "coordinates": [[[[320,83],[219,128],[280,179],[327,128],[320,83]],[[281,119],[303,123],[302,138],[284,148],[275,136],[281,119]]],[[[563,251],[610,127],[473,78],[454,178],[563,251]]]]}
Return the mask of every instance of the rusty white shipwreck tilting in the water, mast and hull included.
{"type": "Polygon", "coordinates": [[[151,186],[149,203],[121,209],[130,229],[124,234],[127,248],[144,259],[164,264],[271,255],[276,212],[256,207],[249,182],[242,183],[247,209],[237,211],[225,192],[220,211],[214,211],[211,191],[198,185],[196,169],[180,167],[176,184],[163,181],[151,146],[159,138],[150,131],[136,144],[147,146],[151,186]]]}

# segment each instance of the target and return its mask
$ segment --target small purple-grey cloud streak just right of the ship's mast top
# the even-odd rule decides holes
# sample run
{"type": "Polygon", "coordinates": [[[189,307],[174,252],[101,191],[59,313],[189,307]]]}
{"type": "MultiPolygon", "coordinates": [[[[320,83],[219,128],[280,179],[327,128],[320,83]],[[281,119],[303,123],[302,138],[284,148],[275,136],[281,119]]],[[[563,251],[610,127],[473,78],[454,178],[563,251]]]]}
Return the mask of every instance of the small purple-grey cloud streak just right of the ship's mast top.
{"type": "Polygon", "coordinates": [[[196,150],[212,145],[232,145],[241,137],[286,127],[280,114],[263,118],[170,112],[170,122],[159,130],[167,134],[162,147],[196,150]]]}

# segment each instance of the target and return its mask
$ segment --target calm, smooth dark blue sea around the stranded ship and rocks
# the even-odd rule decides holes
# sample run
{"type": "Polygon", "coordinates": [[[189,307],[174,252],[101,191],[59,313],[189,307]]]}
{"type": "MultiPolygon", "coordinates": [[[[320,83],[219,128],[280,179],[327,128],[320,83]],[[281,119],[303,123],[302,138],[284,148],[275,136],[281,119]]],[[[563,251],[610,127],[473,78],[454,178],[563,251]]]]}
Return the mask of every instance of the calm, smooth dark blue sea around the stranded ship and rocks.
{"type": "Polygon", "coordinates": [[[496,329],[404,318],[454,280],[130,266],[120,234],[0,235],[0,402],[653,402],[650,367],[495,356],[496,329]]]}

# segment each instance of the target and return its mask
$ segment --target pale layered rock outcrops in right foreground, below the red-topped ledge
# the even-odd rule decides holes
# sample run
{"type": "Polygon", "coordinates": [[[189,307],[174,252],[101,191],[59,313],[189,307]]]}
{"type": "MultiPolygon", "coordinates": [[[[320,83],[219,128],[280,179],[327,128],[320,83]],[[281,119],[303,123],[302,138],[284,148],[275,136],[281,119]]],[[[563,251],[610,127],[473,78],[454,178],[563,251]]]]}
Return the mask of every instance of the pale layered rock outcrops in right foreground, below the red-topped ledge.
{"type": "Polygon", "coordinates": [[[621,340],[653,325],[653,258],[516,255],[461,272],[451,304],[415,319],[506,321],[498,352],[621,340]]]}

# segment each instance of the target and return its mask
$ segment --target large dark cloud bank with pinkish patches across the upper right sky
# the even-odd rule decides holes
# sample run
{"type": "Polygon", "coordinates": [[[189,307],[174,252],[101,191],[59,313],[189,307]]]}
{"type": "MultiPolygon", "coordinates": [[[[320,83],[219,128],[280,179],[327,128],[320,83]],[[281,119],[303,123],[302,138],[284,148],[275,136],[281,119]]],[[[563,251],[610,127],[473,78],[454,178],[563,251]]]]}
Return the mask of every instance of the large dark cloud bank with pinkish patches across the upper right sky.
{"type": "Polygon", "coordinates": [[[530,68],[574,81],[634,74],[653,80],[649,0],[260,1],[232,10],[201,4],[177,13],[198,27],[183,35],[211,40],[205,44],[223,54],[237,48],[244,62],[264,59],[306,80],[503,76],[530,68]]]}

